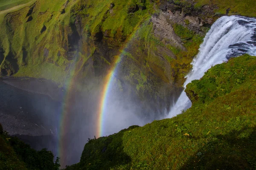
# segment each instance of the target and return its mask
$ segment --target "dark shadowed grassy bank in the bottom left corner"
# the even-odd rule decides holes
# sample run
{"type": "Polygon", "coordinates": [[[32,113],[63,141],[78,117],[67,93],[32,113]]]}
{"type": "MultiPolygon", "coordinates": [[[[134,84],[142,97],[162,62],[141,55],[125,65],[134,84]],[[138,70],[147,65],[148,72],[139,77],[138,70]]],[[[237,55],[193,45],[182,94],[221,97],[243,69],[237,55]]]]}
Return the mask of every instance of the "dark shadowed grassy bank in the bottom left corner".
{"type": "Polygon", "coordinates": [[[36,151],[16,137],[2,134],[0,125],[0,170],[58,170],[51,151],[36,151]]]}

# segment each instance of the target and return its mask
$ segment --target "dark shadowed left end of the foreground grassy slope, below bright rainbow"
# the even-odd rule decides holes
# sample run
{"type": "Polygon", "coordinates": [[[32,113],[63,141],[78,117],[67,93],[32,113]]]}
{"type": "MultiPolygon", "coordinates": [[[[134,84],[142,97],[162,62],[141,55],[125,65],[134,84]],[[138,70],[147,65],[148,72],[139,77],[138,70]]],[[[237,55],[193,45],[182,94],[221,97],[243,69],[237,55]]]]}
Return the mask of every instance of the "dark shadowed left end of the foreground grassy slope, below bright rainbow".
{"type": "Polygon", "coordinates": [[[139,126],[131,126],[108,137],[89,140],[84,146],[81,156],[81,169],[105,170],[115,166],[125,166],[131,163],[131,158],[124,153],[122,136],[139,126]]]}

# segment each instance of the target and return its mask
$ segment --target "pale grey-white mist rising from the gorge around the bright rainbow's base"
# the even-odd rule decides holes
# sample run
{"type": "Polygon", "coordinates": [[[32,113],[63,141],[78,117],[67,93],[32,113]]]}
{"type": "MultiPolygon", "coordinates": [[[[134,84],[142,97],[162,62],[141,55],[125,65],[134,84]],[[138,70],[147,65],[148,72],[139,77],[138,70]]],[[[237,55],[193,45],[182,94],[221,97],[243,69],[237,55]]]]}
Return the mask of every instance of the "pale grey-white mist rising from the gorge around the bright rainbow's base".
{"type": "MultiPolygon", "coordinates": [[[[143,126],[155,119],[155,111],[150,105],[140,102],[136,94],[130,93],[131,86],[124,84],[122,88],[113,81],[109,86],[106,98],[105,110],[102,119],[102,136],[117,133],[131,125],[143,126]],[[146,108],[146,109],[145,109],[146,108]]],[[[93,80],[91,80],[93,82],[93,80]]],[[[76,83],[74,83],[76,84],[76,83]]],[[[99,88],[76,92],[77,87],[69,90],[69,99],[65,105],[68,107],[64,123],[64,133],[60,133],[59,143],[62,144],[61,165],[75,164],[80,161],[81,153],[88,138],[97,136],[99,129],[99,108],[102,99],[102,84],[99,88]]],[[[80,87],[85,88],[85,87],[80,87]]],[[[161,119],[159,117],[159,119],[161,119]]],[[[101,136],[101,137],[102,137],[101,136]]],[[[99,136],[97,136],[99,137],[99,136]]]]}

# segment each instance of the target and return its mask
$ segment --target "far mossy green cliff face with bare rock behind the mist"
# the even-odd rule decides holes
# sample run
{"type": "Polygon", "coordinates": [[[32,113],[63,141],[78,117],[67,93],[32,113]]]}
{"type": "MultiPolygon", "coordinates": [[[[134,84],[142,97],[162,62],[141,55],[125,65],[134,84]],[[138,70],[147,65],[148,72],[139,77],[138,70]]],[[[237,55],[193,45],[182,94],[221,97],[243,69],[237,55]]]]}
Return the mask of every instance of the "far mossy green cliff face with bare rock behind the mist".
{"type": "Polygon", "coordinates": [[[221,14],[206,4],[37,0],[6,9],[0,13],[0,76],[46,78],[60,86],[74,78],[79,91],[91,91],[120,56],[116,79],[123,93],[168,108],[207,27],[221,14]]]}

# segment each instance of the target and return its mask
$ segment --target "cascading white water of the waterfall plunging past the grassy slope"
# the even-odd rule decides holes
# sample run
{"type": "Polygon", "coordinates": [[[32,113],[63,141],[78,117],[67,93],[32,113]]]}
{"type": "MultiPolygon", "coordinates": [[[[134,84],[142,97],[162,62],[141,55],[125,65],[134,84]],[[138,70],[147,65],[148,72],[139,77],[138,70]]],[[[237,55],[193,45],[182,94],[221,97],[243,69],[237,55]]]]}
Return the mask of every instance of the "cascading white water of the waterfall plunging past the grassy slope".
{"type": "MultiPolygon", "coordinates": [[[[186,76],[186,85],[200,79],[216,64],[242,54],[256,55],[256,18],[230,16],[219,18],[211,27],[193,59],[192,71],[186,76]]],[[[191,107],[191,102],[183,91],[169,112],[169,118],[191,107]]]]}

